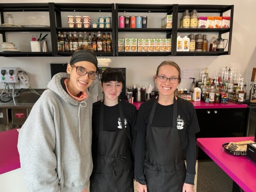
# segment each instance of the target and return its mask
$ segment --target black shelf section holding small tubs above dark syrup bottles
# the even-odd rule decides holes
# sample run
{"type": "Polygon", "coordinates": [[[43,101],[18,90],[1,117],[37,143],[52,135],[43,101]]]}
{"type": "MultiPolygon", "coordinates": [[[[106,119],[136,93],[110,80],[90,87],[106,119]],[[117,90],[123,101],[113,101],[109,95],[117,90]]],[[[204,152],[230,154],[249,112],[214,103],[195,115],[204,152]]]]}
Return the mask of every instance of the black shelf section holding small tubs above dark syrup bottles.
{"type": "MultiPolygon", "coordinates": [[[[57,46],[57,32],[69,32],[72,31],[82,32],[111,32],[112,44],[115,45],[115,5],[111,4],[96,4],[96,3],[53,3],[54,12],[51,16],[54,18],[54,25],[51,24],[52,44],[55,44],[53,49],[53,56],[71,56],[72,52],[58,52],[57,46]],[[62,28],[61,24],[61,12],[110,12],[112,13],[112,28],[62,28]],[[56,20],[56,25],[55,25],[56,20]]],[[[96,56],[115,56],[115,46],[113,46],[113,52],[94,52],[96,56]]]]}

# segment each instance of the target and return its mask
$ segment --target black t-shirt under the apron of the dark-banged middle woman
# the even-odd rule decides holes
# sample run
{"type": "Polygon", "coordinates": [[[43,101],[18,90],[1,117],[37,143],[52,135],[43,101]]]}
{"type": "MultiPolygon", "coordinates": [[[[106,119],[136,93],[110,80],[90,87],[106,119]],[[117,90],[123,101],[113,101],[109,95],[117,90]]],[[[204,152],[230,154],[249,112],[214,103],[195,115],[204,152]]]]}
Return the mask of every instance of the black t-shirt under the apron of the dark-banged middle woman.
{"type": "MultiPolygon", "coordinates": [[[[95,102],[93,104],[93,117],[92,117],[92,129],[93,129],[93,140],[92,140],[92,152],[96,154],[98,148],[98,135],[99,135],[99,127],[100,127],[100,105],[101,101],[95,102]]],[[[131,150],[134,154],[134,145],[135,142],[133,140],[136,139],[136,131],[133,129],[136,117],[137,117],[137,109],[134,105],[121,101],[124,112],[124,120],[125,126],[127,129],[127,138],[129,139],[129,146],[131,146],[131,150]]],[[[119,115],[119,107],[118,104],[115,106],[106,106],[104,105],[104,117],[103,117],[103,130],[105,131],[117,131],[122,129],[121,120],[119,115]]],[[[118,144],[117,144],[118,145],[118,144]]]]}

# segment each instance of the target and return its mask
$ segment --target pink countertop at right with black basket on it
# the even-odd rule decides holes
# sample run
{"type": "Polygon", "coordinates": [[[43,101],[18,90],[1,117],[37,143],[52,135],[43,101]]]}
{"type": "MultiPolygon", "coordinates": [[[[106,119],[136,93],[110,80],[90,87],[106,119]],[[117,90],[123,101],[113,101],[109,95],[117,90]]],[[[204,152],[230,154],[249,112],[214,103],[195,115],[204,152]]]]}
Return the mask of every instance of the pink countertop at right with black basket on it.
{"type": "Polygon", "coordinates": [[[224,151],[222,144],[254,141],[254,137],[198,138],[197,145],[226,172],[244,191],[256,191],[256,163],[245,156],[233,156],[224,151]]]}

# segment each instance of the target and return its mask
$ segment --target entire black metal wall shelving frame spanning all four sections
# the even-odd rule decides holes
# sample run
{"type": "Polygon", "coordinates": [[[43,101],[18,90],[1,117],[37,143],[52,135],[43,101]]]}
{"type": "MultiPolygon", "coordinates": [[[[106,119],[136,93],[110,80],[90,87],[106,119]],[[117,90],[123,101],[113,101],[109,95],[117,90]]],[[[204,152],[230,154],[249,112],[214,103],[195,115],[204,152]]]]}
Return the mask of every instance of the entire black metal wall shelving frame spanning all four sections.
{"type": "MultiPolygon", "coordinates": [[[[50,27],[14,28],[2,27],[0,33],[3,41],[6,41],[6,32],[50,32],[52,52],[0,52],[4,57],[49,57],[49,56],[71,56],[72,52],[58,52],[57,32],[72,31],[82,32],[111,32],[113,52],[95,52],[96,56],[219,56],[230,55],[233,29],[234,5],[179,5],[179,4],[97,4],[97,3],[0,3],[0,17],[3,23],[4,12],[49,12],[50,27]],[[178,14],[189,10],[197,10],[198,13],[223,13],[230,11],[230,28],[177,28],[178,14]],[[61,12],[110,12],[112,14],[112,28],[67,28],[61,25],[61,12]],[[166,13],[173,15],[173,28],[118,28],[118,13],[166,13]],[[217,33],[218,39],[222,34],[229,33],[228,51],[213,52],[177,52],[177,33],[217,33]],[[118,33],[166,33],[167,38],[172,38],[170,52],[118,52],[118,33]]],[[[207,14],[206,14],[207,15],[207,14]]]]}

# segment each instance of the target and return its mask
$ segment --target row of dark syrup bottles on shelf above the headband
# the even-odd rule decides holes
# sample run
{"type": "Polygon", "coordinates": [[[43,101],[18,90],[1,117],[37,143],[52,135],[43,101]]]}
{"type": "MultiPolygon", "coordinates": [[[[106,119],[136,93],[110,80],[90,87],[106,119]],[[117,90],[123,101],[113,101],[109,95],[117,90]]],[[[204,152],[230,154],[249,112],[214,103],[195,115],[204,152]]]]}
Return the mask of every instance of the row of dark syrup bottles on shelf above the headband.
{"type": "Polygon", "coordinates": [[[113,55],[110,32],[58,32],[58,55],[71,56],[81,45],[92,46],[96,56],[113,55]]]}

